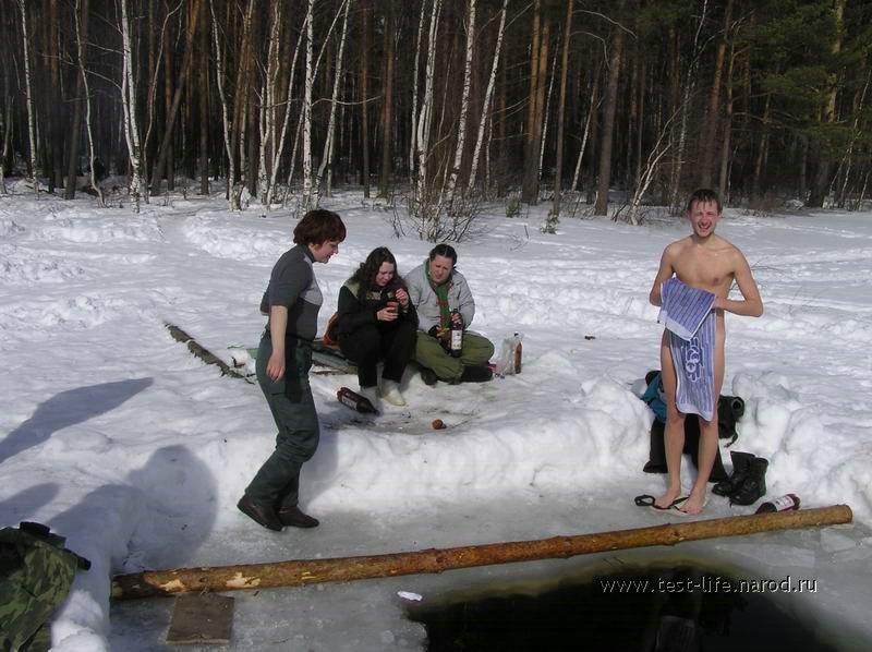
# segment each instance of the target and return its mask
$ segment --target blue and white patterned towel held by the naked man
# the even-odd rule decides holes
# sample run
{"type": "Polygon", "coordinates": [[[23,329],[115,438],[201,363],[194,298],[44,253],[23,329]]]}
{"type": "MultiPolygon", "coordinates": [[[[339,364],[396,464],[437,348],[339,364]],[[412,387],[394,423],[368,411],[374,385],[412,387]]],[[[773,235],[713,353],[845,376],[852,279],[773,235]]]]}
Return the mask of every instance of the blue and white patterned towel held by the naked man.
{"type": "Polygon", "coordinates": [[[677,278],[661,288],[657,322],[669,331],[669,350],[678,382],[675,405],[685,414],[712,421],[715,412],[715,295],[677,278]]]}

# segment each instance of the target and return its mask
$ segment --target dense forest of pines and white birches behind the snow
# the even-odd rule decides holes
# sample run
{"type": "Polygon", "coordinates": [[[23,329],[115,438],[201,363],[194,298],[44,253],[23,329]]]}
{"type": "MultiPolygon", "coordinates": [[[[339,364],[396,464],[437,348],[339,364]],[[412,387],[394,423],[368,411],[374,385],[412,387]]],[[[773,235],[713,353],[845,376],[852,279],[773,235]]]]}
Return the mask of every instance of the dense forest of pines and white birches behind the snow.
{"type": "Polygon", "coordinates": [[[441,240],[483,200],[606,215],[613,189],[637,222],[700,185],[761,210],[870,192],[865,2],[1,0],[0,29],[0,178],[66,198],[355,185],[441,240]]]}

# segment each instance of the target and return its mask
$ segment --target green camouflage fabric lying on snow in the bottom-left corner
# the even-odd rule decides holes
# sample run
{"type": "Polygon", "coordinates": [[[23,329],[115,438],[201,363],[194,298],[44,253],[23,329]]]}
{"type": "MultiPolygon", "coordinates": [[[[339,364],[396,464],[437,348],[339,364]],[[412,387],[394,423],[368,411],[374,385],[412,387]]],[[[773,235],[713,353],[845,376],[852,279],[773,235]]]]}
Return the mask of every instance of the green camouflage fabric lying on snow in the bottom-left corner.
{"type": "Polygon", "coordinates": [[[88,567],[39,523],[0,530],[0,650],[48,650],[49,621],[77,567],[88,567]]]}

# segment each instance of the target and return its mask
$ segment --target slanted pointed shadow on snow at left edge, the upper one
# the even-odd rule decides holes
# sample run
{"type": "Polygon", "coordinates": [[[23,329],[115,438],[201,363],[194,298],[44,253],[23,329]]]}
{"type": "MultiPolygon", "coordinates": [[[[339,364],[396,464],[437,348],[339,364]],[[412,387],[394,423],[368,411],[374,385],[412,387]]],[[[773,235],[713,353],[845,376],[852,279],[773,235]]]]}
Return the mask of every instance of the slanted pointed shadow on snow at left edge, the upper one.
{"type": "Polygon", "coordinates": [[[27,421],[0,442],[0,463],[47,442],[59,430],[114,410],[153,383],[154,378],[134,378],[56,394],[39,403],[27,421]]]}

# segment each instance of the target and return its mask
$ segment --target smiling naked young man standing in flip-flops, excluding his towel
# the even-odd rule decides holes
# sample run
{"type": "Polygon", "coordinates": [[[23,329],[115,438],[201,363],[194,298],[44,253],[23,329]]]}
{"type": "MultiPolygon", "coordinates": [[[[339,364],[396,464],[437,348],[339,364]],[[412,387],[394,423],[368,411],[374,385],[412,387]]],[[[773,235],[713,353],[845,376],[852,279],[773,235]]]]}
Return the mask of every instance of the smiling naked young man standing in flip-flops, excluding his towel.
{"type": "MultiPolygon", "coordinates": [[[[714,415],[700,416],[699,474],[688,499],[678,507],[687,514],[700,514],[705,505],[706,483],[717,454],[717,397],[724,383],[724,312],[759,317],[763,301],[742,252],[719,236],[715,227],[720,220],[720,200],[712,190],[695,191],[688,202],[688,218],[693,233],[669,244],[663,252],[661,268],[649,297],[654,305],[663,305],[661,286],[675,276],[683,283],[715,294],[714,346],[714,415]],[[732,281],[739,286],[742,300],[728,299],[732,281]]],[[[669,486],[654,505],[668,508],[681,495],[681,451],[685,447],[685,414],[676,407],[676,371],[669,348],[669,333],[661,340],[661,369],[666,394],[666,467],[669,486]]]]}

